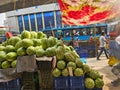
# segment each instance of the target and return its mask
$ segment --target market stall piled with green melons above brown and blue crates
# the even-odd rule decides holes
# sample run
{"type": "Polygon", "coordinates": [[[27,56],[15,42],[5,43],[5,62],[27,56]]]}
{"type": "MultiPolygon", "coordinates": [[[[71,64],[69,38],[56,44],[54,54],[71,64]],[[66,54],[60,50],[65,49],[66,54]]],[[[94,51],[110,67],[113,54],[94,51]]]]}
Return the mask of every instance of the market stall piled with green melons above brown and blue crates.
{"type": "Polygon", "coordinates": [[[1,90],[102,90],[104,85],[72,46],[43,32],[25,30],[8,38],[0,46],[0,60],[0,73],[10,72],[0,78],[1,90]]]}

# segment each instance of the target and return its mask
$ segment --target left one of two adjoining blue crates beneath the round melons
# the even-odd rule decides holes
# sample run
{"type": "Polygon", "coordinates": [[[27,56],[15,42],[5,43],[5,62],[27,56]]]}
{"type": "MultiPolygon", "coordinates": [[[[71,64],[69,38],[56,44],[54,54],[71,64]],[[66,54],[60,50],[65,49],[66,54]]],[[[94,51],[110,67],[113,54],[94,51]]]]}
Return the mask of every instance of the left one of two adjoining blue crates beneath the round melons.
{"type": "Polygon", "coordinates": [[[54,77],[54,90],[68,90],[69,77],[54,77]]]}

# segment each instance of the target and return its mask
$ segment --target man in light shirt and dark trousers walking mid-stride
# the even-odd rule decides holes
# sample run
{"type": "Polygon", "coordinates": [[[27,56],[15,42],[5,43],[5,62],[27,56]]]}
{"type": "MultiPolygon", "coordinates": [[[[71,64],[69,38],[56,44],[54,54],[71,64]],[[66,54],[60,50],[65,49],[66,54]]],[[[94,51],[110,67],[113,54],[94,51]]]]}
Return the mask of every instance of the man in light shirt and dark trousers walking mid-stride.
{"type": "Polygon", "coordinates": [[[107,50],[105,48],[105,43],[108,43],[108,42],[107,42],[107,40],[105,38],[105,32],[101,33],[101,36],[99,38],[99,42],[100,42],[100,52],[98,53],[97,60],[100,60],[100,56],[103,53],[103,51],[104,51],[104,53],[106,55],[106,58],[108,59],[109,58],[108,57],[108,52],[107,52],[107,50]]]}

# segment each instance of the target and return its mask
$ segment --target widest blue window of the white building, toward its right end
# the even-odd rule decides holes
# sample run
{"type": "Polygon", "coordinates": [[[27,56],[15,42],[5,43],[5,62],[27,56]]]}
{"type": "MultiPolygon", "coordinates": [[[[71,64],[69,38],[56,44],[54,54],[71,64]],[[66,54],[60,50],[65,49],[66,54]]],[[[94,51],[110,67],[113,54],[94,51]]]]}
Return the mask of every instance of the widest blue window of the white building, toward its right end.
{"type": "Polygon", "coordinates": [[[45,29],[54,28],[55,27],[54,12],[45,12],[44,22],[45,22],[45,29]]]}

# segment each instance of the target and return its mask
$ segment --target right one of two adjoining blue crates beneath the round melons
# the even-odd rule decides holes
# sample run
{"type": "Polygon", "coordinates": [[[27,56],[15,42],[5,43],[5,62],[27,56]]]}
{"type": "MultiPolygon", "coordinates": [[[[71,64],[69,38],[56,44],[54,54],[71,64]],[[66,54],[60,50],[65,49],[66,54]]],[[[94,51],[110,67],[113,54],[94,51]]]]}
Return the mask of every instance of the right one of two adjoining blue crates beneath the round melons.
{"type": "Polygon", "coordinates": [[[84,90],[84,76],[70,77],[70,90],[84,90]]]}

